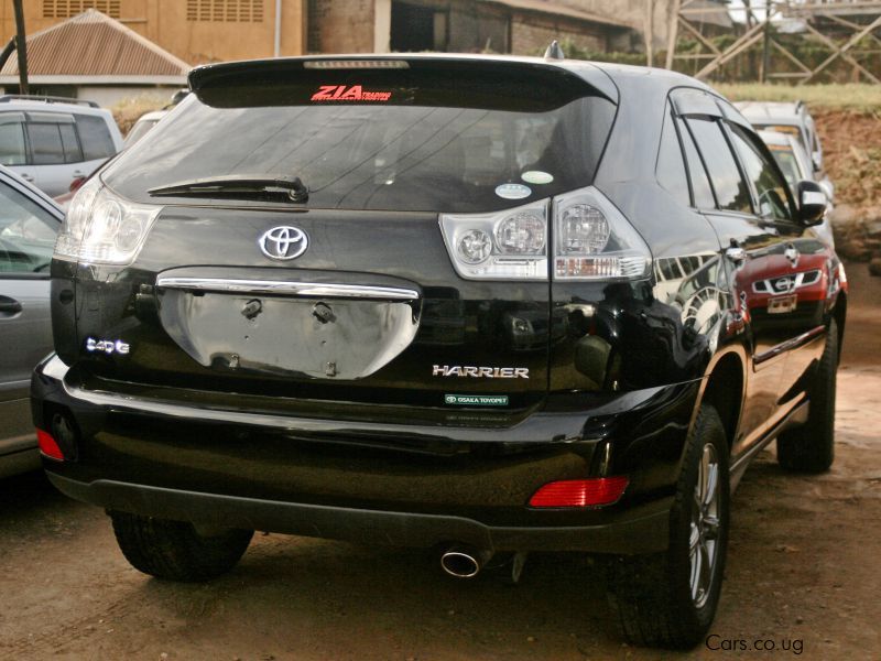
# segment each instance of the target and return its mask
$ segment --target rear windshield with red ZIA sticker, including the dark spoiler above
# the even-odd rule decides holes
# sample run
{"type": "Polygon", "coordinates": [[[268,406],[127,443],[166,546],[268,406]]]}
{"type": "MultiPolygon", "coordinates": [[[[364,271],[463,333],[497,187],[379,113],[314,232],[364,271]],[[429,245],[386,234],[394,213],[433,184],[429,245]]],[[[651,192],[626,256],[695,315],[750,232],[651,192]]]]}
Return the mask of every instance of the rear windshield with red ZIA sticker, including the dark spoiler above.
{"type": "Polygon", "coordinates": [[[195,178],[281,175],[308,187],[309,208],[496,210],[590,184],[613,116],[568,73],[264,71],[189,95],[104,178],[142,202],[195,178]]]}

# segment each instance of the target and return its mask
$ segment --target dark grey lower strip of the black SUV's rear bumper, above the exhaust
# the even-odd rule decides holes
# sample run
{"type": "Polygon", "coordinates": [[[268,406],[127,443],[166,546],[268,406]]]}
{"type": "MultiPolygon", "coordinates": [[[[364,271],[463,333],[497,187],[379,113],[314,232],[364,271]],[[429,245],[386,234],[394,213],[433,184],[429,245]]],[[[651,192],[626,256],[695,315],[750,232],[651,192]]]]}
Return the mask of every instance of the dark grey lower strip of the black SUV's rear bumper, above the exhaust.
{"type": "Polygon", "coordinates": [[[366,544],[428,548],[456,542],[492,551],[662,551],[671,505],[662,500],[597,525],[518,528],[487,525],[463,517],[281,502],[104,479],[87,484],[51,470],[48,478],[77,500],[144,516],[366,544]]]}

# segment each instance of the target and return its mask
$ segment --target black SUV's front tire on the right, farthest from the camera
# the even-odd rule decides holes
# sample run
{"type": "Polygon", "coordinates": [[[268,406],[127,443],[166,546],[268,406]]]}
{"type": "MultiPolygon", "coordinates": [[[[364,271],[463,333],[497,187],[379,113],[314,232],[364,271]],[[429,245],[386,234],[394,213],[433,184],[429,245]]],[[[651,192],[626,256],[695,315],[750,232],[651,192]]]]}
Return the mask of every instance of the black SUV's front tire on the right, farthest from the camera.
{"type": "Polygon", "coordinates": [[[824,473],[835,460],[835,391],[838,372],[838,325],[826,329],[826,348],[808,388],[807,422],[777,437],[777,462],[787,470],[824,473]]]}

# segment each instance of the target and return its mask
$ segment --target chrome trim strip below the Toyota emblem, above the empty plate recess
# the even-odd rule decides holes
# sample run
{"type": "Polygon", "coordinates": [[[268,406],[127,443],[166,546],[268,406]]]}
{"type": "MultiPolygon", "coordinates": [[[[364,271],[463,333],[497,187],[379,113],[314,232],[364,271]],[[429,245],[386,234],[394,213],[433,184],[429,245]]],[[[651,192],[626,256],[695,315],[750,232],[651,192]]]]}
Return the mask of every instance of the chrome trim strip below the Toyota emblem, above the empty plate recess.
{"type": "Polygon", "coordinates": [[[328,299],[380,299],[383,301],[418,300],[415,290],[369,284],[334,284],[324,282],[292,282],[284,280],[228,280],[225,278],[163,278],[156,279],[161,289],[183,289],[203,292],[243,294],[286,294],[328,299]]]}

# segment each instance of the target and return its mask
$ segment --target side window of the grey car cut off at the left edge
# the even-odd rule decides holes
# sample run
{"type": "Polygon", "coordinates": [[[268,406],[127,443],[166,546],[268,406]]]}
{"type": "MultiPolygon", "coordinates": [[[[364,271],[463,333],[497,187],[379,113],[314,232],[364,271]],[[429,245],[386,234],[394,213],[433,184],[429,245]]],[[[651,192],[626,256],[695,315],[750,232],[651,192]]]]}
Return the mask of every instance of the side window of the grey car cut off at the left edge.
{"type": "Polygon", "coordinates": [[[0,273],[45,271],[58,227],[52,214],[0,182],[0,273]]]}

